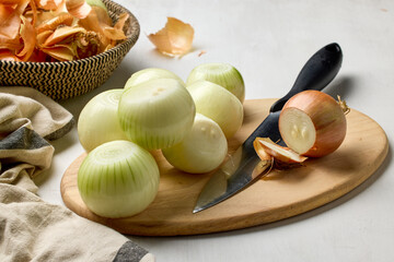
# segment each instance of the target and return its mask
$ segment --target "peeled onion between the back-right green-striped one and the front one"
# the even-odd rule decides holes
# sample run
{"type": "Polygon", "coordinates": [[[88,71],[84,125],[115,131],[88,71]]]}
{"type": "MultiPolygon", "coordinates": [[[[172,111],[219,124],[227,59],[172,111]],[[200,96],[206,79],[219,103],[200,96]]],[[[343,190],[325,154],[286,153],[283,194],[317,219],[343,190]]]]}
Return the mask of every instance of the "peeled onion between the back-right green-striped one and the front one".
{"type": "Polygon", "coordinates": [[[212,119],[222,129],[227,139],[233,136],[243,121],[243,106],[229,91],[208,81],[187,86],[197,112],[212,119]]]}

